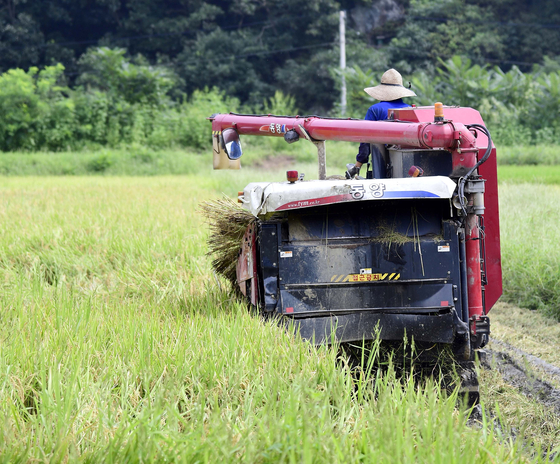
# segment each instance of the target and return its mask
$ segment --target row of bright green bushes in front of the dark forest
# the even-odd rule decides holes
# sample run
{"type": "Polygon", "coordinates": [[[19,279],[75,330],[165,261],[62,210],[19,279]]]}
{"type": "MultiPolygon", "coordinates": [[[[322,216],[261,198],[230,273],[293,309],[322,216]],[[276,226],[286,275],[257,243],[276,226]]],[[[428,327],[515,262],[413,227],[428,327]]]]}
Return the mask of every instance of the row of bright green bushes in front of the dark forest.
{"type": "MultiPolygon", "coordinates": [[[[206,117],[244,111],[294,114],[293,97],[277,91],[260,106],[241,104],[212,88],[173,98],[176,76],[130,61],[122,49],[100,48],[81,59],[75,87],[64,84],[58,64],[0,75],[0,150],[67,150],[142,145],[152,148],[209,147],[206,117]]],[[[363,117],[372,100],[363,88],[378,76],[355,67],[346,72],[347,114],[363,117]]],[[[560,71],[521,73],[487,68],[455,56],[436,74],[412,75],[417,104],[443,101],[479,109],[496,142],[553,144],[560,137],[560,71]]],[[[337,115],[337,109],[331,111],[337,115]]]]}

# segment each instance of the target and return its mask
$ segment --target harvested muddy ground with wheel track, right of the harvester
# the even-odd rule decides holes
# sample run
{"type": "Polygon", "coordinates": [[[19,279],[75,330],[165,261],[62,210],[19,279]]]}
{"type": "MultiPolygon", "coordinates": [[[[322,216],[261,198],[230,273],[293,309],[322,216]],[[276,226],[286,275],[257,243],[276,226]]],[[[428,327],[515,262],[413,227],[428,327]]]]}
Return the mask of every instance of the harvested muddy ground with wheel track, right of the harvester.
{"type": "Polygon", "coordinates": [[[481,402],[504,436],[529,455],[560,462],[560,323],[498,303],[481,356],[481,402]]]}

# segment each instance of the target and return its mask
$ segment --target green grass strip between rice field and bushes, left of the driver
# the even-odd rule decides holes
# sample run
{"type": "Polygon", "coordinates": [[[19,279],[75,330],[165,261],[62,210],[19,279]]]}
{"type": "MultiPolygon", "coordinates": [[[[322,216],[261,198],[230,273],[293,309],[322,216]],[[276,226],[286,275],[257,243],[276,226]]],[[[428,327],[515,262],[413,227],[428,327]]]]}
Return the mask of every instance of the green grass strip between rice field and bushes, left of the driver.
{"type": "MultiPolygon", "coordinates": [[[[264,170],[297,169],[306,179],[317,178],[317,150],[306,141],[288,145],[283,139],[247,137],[243,140],[244,167],[264,170]]],[[[346,163],[354,162],[355,144],[332,142],[327,147],[329,174],[343,174],[346,163]]],[[[212,170],[212,147],[204,153],[191,149],[150,150],[101,149],[83,152],[0,153],[3,176],[155,176],[206,174],[212,170]]]]}

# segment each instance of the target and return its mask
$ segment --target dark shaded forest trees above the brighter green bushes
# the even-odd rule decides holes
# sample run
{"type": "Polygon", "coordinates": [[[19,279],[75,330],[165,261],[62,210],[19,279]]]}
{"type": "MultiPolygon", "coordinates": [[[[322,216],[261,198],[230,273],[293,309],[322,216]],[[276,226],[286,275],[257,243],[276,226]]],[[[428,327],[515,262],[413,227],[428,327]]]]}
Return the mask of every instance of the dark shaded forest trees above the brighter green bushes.
{"type": "Polygon", "coordinates": [[[341,9],[348,65],[364,70],[462,55],[529,71],[560,50],[560,7],[547,0],[2,0],[0,71],[62,63],[74,81],[88,48],[120,47],[189,95],[217,86],[255,105],[278,89],[324,112],[337,100],[341,9]]]}

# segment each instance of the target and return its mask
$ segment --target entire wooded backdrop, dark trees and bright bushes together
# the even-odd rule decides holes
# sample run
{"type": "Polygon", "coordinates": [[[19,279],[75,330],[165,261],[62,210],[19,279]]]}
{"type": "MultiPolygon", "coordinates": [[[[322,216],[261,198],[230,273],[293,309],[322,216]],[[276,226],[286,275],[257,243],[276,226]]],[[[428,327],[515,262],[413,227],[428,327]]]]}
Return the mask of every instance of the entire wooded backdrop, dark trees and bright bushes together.
{"type": "Polygon", "coordinates": [[[0,150],[202,148],[217,111],[340,115],[341,8],[347,114],[395,66],[416,102],[479,108],[499,141],[559,138],[555,2],[4,0],[0,150]]]}

